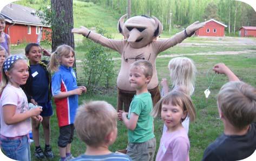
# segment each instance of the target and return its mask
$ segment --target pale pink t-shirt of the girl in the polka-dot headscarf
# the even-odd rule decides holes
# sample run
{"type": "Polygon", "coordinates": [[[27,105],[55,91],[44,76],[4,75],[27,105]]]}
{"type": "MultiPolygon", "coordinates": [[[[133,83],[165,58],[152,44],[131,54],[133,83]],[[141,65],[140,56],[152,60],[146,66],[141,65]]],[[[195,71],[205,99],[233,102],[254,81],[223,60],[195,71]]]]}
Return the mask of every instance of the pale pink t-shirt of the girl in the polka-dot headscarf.
{"type": "Polygon", "coordinates": [[[11,85],[7,85],[0,99],[0,114],[1,114],[1,131],[0,134],[6,137],[16,137],[29,134],[31,130],[31,120],[26,120],[7,125],[4,122],[3,106],[6,104],[13,104],[16,107],[16,114],[25,113],[29,110],[28,99],[21,88],[16,88],[11,85]]]}

